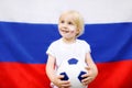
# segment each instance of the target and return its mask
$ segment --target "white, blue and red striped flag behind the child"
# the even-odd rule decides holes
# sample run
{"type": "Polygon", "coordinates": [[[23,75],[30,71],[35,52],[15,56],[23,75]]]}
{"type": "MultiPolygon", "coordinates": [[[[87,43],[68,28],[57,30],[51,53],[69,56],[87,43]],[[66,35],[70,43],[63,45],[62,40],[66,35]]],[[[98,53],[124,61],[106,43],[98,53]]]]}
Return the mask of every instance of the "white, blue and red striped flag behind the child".
{"type": "Polygon", "coordinates": [[[131,0],[1,0],[0,88],[50,88],[48,45],[59,38],[65,10],[85,19],[86,40],[99,70],[89,88],[132,88],[131,0]]]}

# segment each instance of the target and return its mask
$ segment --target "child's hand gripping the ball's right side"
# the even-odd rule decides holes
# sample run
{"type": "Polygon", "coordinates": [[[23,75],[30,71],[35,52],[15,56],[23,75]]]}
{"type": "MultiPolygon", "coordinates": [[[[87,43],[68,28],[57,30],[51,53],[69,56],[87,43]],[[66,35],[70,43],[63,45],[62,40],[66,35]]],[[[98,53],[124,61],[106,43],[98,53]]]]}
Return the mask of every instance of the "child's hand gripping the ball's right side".
{"type": "Polygon", "coordinates": [[[90,67],[86,67],[86,69],[88,70],[88,73],[81,76],[85,78],[81,80],[82,85],[85,85],[85,86],[90,84],[96,78],[96,74],[95,74],[94,69],[91,69],[90,67]]]}

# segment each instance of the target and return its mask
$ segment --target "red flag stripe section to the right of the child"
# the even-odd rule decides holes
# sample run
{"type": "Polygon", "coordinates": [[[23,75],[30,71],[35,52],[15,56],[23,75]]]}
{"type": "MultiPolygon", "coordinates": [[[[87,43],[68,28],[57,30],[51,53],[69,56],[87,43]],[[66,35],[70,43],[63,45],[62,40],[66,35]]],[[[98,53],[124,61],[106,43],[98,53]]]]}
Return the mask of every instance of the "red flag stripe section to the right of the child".
{"type": "Polygon", "coordinates": [[[89,88],[132,88],[132,59],[97,64],[99,74],[89,88]]]}

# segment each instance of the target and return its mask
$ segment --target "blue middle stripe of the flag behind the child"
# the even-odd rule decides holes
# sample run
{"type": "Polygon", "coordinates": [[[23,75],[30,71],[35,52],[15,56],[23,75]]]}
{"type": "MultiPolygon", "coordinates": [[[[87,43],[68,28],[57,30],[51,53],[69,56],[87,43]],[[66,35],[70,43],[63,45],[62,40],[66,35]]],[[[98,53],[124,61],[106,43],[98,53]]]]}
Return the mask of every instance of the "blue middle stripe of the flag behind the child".
{"type": "MultiPolygon", "coordinates": [[[[79,38],[91,45],[96,63],[132,59],[132,23],[86,24],[79,38]]],[[[0,22],[0,62],[46,63],[57,24],[0,22]]]]}

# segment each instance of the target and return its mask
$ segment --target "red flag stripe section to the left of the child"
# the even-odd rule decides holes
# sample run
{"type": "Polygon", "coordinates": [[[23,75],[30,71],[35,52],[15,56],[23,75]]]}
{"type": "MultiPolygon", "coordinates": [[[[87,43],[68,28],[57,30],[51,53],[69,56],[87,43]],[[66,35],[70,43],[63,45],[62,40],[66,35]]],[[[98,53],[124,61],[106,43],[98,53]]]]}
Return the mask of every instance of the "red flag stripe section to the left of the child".
{"type": "Polygon", "coordinates": [[[0,88],[50,88],[45,64],[0,63],[0,88]]]}

